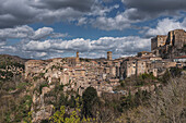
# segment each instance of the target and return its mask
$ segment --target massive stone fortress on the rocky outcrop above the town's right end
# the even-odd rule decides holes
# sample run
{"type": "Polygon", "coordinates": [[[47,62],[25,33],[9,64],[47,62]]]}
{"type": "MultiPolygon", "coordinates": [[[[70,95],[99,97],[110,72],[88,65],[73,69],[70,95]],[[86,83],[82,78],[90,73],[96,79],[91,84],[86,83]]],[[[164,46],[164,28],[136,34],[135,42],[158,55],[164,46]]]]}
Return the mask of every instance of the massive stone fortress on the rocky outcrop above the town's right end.
{"type": "Polygon", "coordinates": [[[175,58],[186,54],[186,32],[175,29],[168,32],[167,36],[160,36],[151,39],[151,51],[162,58],[175,58]]]}

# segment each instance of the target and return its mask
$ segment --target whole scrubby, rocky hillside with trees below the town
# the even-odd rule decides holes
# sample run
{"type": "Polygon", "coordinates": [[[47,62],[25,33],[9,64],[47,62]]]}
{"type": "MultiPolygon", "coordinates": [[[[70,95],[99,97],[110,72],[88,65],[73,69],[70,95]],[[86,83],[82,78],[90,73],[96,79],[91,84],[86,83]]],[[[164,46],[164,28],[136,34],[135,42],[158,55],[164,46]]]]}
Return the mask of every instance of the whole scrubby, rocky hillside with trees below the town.
{"type": "MultiPolygon", "coordinates": [[[[113,93],[101,96],[93,87],[88,87],[80,96],[75,90],[67,89],[73,86],[70,82],[66,85],[59,79],[48,82],[44,76],[47,71],[37,77],[25,78],[24,59],[5,54],[0,56],[0,60],[1,123],[136,123],[147,120],[164,123],[185,120],[186,76],[185,70],[178,67],[167,70],[160,77],[147,73],[128,77],[120,81],[113,93]]],[[[51,73],[57,70],[53,66],[51,73]]]]}

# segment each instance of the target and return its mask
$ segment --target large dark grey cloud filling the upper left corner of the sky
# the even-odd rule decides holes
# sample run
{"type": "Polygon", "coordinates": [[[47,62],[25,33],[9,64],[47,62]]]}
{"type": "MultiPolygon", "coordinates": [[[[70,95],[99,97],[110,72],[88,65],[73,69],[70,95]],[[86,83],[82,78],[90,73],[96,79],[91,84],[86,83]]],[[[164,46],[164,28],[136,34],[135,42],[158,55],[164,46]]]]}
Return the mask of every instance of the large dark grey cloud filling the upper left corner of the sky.
{"type": "Polygon", "coordinates": [[[0,0],[0,28],[35,22],[73,21],[91,12],[95,0],[0,0]]]}

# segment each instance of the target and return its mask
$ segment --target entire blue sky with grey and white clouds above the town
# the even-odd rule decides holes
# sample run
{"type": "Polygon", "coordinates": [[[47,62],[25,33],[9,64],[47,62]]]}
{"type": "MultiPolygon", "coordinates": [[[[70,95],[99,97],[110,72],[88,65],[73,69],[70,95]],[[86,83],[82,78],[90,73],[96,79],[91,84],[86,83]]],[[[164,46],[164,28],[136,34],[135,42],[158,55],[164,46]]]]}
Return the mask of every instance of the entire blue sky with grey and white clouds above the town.
{"type": "Polygon", "coordinates": [[[31,59],[114,58],[186,30],[186,0],[0,0],[0,53],[31,59]]]}

